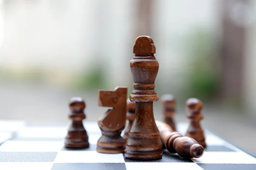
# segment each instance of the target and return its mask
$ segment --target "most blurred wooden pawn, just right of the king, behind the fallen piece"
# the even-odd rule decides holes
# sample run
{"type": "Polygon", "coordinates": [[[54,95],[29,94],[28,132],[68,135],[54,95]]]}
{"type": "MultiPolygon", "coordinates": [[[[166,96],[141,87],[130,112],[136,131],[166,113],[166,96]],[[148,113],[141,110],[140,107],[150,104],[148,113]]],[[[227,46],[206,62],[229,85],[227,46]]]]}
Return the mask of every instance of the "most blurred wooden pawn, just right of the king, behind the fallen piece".
{"type": "Polygon", "coordinates": [[[173,117],[176,113],[176,100],[171,94],[164,94],[161,97],[161,103],[163,105],[163,115],[165,116],[164,122],[172,127],[172,130],[177,131],[175,128],[175,122],[173,117]]]}

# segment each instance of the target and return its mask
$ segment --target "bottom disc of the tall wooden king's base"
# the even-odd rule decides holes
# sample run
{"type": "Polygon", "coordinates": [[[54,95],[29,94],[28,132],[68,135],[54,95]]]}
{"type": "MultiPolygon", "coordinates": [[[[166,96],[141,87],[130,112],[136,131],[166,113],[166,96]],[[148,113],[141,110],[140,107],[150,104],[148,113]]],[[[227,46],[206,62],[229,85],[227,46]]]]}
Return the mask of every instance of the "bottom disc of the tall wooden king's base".
{"type": "Polygon", "coordinates": [[[156,160],[161,159],[163,156],[163,152],[155,151],[155,152],[134,152],[134,151],[125,151],[125,157],[127,159],[133,160],[156,160]]]}

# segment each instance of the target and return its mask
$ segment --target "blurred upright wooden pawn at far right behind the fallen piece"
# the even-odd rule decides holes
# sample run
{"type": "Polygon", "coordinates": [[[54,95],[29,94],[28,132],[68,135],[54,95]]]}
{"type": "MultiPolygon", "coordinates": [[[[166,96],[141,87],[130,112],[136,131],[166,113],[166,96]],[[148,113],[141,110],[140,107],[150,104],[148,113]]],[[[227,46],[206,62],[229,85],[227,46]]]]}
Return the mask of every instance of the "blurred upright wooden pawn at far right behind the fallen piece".
{"type": "Polygon", "coordinates": [[[203,147],[206,147],[204,131],[200,125],[200,121],[204,119],[201,110],[203,104],[199,99],[190,98],[186,101],[186,108],[188,110],[187,118],[190,119],[190,125],[186,132],[186,136],[192,137],[203,147]]]}

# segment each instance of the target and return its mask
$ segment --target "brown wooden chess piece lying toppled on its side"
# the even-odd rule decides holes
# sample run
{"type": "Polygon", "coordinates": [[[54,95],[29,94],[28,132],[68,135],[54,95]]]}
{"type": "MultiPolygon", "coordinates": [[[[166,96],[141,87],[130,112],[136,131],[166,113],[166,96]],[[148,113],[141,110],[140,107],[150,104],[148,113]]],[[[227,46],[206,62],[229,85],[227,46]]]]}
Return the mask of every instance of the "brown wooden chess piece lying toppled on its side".
{"type": "Polygon", "coordinates": [[[204,153],[204,147],[195,139],[188,136],[182,136],[172,130],[172,127],[165,122],[156,121],[157,128],[160,131],[160,138],[163,148],[170,153],[177,153],[185,159],[200,158],[204,153]]]}

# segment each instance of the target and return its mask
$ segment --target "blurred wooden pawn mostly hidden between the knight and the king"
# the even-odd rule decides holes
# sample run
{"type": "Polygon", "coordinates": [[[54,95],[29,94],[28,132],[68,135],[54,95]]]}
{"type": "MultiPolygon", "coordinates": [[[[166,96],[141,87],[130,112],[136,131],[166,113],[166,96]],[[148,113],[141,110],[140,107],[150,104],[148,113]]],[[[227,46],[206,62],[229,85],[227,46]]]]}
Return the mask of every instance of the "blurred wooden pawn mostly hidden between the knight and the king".
{"type": "Polygon", "coordinates": [[[127,113],[126,113],[126,119],[128,119],[128,125],[125,127],[125,133],[123,136],[123,139],[127,141],[128,139],[128,133],[131,129],[131,125],[135,118],[135,102],[132,102],[130,99],[127,99],[127,113]]]}

